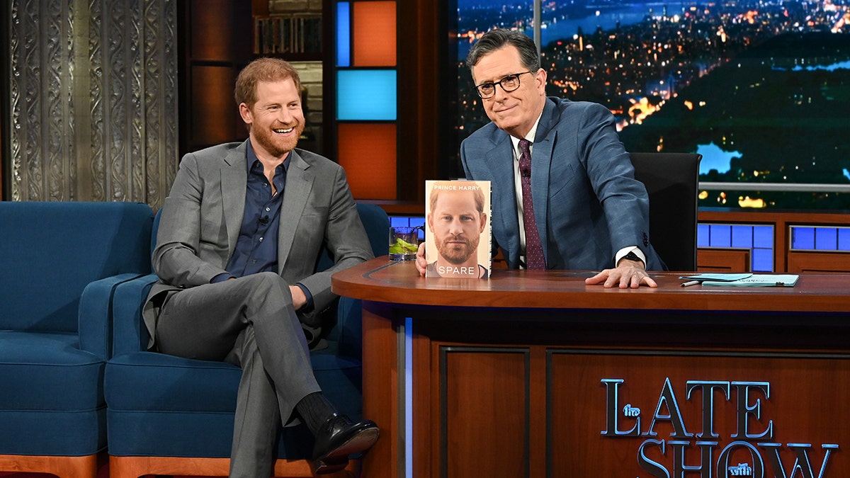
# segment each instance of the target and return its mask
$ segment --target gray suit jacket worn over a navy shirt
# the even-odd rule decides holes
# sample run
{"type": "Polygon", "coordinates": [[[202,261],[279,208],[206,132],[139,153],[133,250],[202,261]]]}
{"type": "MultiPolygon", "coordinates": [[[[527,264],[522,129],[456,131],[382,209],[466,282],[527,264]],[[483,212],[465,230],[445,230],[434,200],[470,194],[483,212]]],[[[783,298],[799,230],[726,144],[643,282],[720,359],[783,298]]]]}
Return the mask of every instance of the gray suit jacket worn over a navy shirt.
{"type": "MultiPolygon", "coordinates": [[[[343,168],[309,151],[290,154],[280,206],[278,273],[312,293],[313,311],[299,317],[317,327],[321,312],[337,298],[331,293],[331,275],[373,255],[343,168]],[[335,265],[314,272],[323,248],[335,265]]],[[[246,185],[246,142],[212,146],[180,162],[153,253],[160,281],[144,304],[149,347],[156,339],[159,307],[170,294],[208,284],[226,272],[245,211],[246,185]]]]}

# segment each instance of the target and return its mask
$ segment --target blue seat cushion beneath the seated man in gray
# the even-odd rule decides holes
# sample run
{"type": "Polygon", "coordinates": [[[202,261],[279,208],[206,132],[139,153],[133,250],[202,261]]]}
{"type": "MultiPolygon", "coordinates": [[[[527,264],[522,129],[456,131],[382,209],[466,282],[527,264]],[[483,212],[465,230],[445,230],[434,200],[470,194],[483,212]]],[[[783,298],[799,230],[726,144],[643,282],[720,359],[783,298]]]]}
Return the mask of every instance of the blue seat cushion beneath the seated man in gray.
{"type": "MultiPolygon", "coordinates": [[[[360,362],[326,351],[311,358],[326,395],[343,413],[359,418],[360,362]]],[[[229,456],[241,375],[241,368],[223,361],[156,352],[113,357],[105,384],[110,454],[229,456]]],[[[311,443],[303,426],[286,428],[280,433],[278,457],[307,458],[311,443]]]]}

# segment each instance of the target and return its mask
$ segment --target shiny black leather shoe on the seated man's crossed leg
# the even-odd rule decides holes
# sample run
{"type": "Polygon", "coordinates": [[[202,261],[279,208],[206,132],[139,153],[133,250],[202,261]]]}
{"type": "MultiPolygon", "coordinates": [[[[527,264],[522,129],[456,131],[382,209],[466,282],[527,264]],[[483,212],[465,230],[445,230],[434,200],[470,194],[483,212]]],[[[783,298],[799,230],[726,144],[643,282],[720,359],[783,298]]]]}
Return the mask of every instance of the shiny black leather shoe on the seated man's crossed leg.
{"type": "Polygon", "coordinates": [[[348,455],[371,448],[377,441],[378,433],[377,425],[371,420],[354,424],[345,415],[328,418],[316,434],[313,446],[316,475],[345,468],[348,455]]]}

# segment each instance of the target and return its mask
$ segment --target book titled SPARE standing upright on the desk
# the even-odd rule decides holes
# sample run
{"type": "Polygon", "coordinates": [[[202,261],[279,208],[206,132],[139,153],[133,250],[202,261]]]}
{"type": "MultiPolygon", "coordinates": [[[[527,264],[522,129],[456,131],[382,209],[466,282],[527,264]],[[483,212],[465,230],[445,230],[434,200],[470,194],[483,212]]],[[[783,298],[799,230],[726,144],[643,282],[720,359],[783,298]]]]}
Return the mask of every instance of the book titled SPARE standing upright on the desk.
{"type": "Polygon", "coordinates": [[[478,263],[479,241],[487,225],[484,192],[477,185],[439,181],[428,199],[426,220],[437,259],[428,264],[425,275],[486,279],[488,269],[478,263]]]}

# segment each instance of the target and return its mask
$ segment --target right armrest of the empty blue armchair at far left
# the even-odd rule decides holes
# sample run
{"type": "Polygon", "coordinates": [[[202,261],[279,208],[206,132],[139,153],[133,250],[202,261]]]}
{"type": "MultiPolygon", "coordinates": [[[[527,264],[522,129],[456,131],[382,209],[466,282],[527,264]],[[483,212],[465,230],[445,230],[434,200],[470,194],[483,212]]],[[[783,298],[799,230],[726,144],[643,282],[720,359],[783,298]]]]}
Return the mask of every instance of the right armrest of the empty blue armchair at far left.
{"type": "Polygon", "coordinates": [[[111,304],[116,287],[139,277],[138,273],[125,273],[90,282],[83,290],[77,310],[77,330],[80,350],[85,350],[107,360],[111,356],[111,304]]]}

